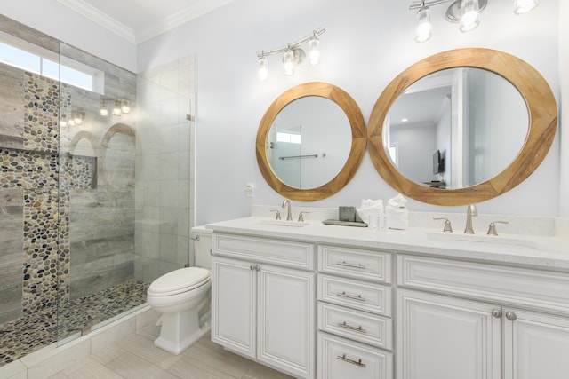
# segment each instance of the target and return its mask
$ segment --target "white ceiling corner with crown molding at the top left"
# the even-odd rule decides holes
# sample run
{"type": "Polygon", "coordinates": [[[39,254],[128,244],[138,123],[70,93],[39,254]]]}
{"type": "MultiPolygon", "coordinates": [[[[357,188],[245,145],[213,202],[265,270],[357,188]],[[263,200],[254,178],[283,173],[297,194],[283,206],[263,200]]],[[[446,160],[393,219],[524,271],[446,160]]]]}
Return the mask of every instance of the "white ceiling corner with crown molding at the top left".
{"type": "Polygon", "coordinates": [[[234,0],[58,0],[132,43],[141,43],[234,0]]]}

